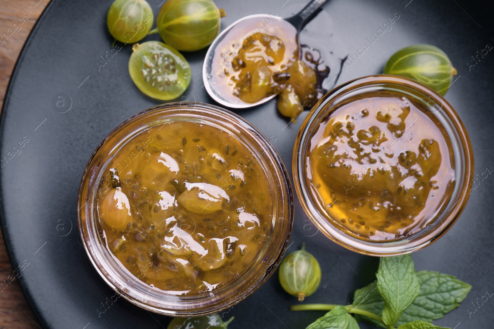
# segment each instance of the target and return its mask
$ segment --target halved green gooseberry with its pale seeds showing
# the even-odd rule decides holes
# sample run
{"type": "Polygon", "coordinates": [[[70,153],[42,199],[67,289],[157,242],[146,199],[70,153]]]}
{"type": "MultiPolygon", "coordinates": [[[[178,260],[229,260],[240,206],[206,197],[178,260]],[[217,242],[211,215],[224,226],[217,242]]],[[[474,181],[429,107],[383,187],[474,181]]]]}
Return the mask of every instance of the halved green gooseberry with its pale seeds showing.
{"type": "Polygon", "coordinates": [[[190,84],[189,63],[175,49],[159,41],[136,43],[128,72],[137,88],[163,101],[182,95],[190,84]]]}

